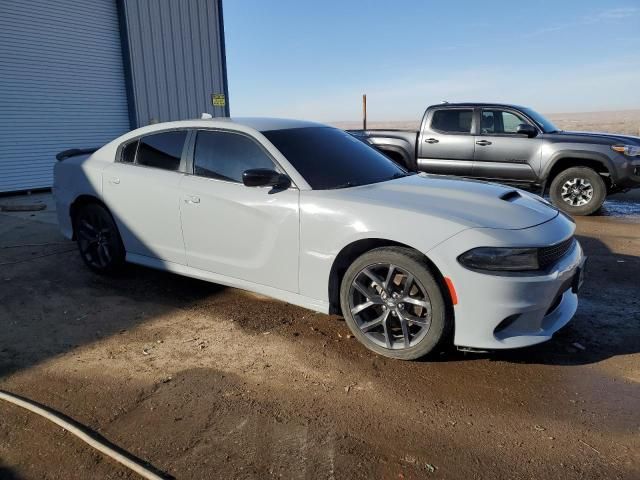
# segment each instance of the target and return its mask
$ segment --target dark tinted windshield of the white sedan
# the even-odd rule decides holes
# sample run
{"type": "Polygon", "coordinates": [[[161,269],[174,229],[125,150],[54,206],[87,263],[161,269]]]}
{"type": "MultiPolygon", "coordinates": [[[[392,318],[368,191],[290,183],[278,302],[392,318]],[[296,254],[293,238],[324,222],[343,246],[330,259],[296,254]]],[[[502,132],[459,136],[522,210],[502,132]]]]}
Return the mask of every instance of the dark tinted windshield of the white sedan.
{"type": "Polygon", "coordinates": [[[348,188],[408,173],[373,147],[332,127],[262,132],[314,190],[348,188]]]}

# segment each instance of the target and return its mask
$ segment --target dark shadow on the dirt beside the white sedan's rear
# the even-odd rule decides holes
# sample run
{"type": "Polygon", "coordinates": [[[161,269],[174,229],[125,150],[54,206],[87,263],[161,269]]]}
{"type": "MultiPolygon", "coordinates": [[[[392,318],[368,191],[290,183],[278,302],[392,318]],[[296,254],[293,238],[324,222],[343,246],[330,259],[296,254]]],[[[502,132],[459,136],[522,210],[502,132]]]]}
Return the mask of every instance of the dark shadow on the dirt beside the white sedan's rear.
{"type": "MultiPolygon", "coordinates": [[[[3,223],[10,221],[0,216],[3,223]]],[[[0,380],[225,289],[130,264],[101,276],[55,225],[22,220],[9,226],[0,246],[18,246],[0,249],[0,380]]]]}

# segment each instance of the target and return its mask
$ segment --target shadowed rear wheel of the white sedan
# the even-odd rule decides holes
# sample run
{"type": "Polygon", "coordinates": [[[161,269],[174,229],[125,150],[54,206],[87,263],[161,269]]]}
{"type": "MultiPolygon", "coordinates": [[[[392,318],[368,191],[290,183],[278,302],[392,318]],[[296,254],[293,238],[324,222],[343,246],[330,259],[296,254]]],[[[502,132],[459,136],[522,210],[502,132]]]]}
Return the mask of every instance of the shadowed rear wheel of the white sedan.
{"type": "Polygon", "coordinates": [[[97,203],[80,207],[74,218],[78,250],[84,263],[94,272],[113,274],[125,263],[125,250],[116,222],[109,211],[97,203]]]}

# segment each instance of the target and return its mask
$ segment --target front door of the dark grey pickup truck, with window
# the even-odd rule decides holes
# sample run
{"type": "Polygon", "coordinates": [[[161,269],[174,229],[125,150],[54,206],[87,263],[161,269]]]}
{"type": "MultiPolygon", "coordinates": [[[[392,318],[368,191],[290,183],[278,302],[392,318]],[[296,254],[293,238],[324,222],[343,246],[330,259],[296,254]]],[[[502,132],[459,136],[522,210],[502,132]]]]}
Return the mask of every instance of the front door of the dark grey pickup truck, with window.
{"type": "Polygon", "coordinates": [[[516,133],[520,124],[533,124],[515,110],[495,107],[483,108],[479,123],[473,176],[534,182],[540,168],[542,139],[540,135],[529,138],[516,133]]]}

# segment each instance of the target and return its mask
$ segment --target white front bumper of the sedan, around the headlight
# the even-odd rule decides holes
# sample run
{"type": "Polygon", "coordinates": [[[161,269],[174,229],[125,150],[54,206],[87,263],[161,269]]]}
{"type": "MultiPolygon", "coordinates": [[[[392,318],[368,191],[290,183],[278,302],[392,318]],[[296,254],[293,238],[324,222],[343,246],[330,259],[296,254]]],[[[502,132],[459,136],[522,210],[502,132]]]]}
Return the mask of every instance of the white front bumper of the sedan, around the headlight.
{"type": "Polygon", "coordinates": [[[478,246],[544,246],[573,235],[563,216],[522,230],[470,229],[429,252],[456,289],[454,343],[477,349],[505,349],[549,340],[578,308],[576,276],[584,266],[582,247],[573,247],[554,265],[535,274],[487,274],[468,270],[455,260],[478,246]],[[493,243],[491,243],[493,242],[493,243]],[[451,255],[451,251],[456,253],[451,255]],[[447,255],[448,252],[448,255],[447,255]]]}

